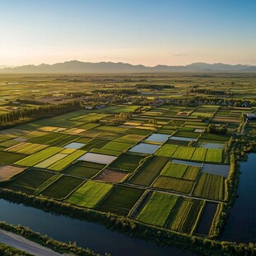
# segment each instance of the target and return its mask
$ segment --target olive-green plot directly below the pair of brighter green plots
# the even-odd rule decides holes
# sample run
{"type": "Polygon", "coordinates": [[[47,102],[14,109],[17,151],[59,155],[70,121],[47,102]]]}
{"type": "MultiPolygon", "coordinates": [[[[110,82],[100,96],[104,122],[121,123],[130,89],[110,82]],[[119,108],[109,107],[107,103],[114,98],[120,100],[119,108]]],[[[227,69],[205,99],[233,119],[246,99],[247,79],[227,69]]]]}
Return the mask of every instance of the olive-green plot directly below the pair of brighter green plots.
{"type": "Polygon", "coordinates": [[[189,194],[192,191],[193,182],[188,180],[183,180],[180,178],[171,178],[171,177],[159,177],[153,187],[159,187],[162,189],[172,190],[183,192],[189,194]]]}

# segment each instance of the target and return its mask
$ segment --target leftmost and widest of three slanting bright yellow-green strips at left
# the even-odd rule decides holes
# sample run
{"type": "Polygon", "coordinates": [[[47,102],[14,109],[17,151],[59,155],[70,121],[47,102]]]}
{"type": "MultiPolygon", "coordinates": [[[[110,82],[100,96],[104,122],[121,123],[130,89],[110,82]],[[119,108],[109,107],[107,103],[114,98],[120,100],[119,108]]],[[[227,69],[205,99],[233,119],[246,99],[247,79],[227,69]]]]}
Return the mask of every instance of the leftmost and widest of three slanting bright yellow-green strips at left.
{"type": "Polygon", "coordinates": [[[61,150],[63,149],[57,148],[57,147],[46,148],[41,150],[40,152],[27,156],[25,159],[21,159],[20,161],[17,161],[15,164],[25,165],[25,166],[34,166],[44,161],[45,159],[50,158],[54,154],[59,153],[61,150]]]}

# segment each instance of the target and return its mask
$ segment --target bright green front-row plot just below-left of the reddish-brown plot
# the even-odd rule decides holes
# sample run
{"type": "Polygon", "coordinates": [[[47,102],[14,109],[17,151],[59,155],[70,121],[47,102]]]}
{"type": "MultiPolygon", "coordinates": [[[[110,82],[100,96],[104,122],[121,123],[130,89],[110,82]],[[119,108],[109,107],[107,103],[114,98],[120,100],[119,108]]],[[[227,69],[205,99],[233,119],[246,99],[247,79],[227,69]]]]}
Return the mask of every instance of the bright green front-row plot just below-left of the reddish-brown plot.
{"type": "Polygon", "coordinates": [[[93,208],[102,201],[113,186],[107,183],[88,181],[73,192],[68,201],[73,205],[93,208]]]}

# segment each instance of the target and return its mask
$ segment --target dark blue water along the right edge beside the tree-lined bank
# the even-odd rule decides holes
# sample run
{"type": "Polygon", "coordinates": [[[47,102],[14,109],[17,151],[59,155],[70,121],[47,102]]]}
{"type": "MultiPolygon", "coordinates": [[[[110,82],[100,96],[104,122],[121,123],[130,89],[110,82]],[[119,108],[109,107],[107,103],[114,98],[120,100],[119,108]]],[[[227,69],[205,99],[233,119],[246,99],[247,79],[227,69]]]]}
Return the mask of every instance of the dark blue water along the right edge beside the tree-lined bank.
{"type": "Polygon", "coordinates": [[[220,239],[256,242],[256,154],[240,163],[238,198],[231,209],[228,223],[220,239]]]}

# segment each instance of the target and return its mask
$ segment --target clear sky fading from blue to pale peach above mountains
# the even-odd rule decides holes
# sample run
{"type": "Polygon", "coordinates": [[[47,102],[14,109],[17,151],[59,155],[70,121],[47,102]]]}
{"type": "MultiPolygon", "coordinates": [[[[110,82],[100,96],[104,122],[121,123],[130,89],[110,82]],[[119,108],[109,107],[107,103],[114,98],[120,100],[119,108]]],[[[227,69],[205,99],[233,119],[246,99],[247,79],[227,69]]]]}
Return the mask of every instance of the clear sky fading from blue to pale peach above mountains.
{"type": "Polygon", "coordinates": [[[0,65],[256,65],[256,0],[0,0],[0,65]]]}

